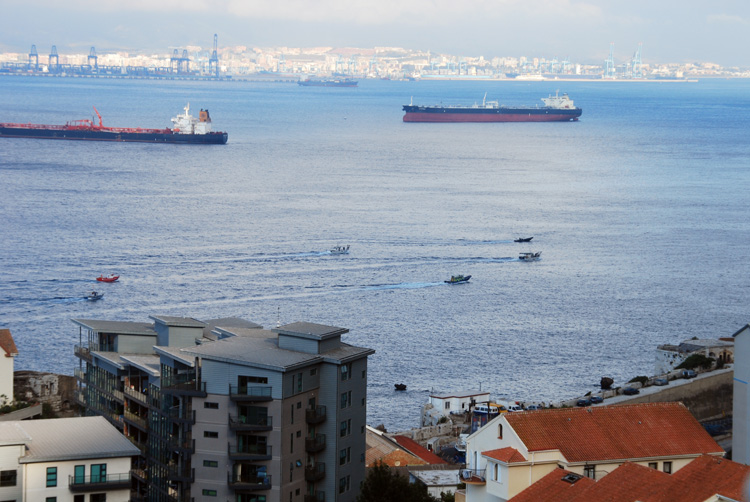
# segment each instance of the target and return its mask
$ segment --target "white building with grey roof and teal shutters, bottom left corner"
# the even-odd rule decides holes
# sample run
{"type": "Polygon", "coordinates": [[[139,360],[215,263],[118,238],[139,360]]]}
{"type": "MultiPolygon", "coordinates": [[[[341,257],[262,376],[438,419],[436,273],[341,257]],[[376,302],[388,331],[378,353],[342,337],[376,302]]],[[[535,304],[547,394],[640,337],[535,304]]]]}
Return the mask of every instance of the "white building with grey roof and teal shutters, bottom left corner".
{"type": "Polygon", "coordinates": [[[139,454],[102,417],[0,422],[0,500],[128,502],[139,454]]]}

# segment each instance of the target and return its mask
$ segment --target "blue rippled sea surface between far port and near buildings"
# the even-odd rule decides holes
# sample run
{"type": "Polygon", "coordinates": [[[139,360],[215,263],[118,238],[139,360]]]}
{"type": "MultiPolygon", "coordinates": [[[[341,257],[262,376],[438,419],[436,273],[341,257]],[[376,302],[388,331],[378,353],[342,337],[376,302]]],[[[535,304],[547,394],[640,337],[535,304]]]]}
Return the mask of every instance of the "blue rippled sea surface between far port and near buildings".
{"type": "Polygon", "coordinates": [[[311,321],[377,351],[368,422],[398,430],[432,389],[575,397],[652,374],[659,344],[750,321],[748,81],[0,78],[1,122],[96,106],[105,125],[165,127],[187,102],[226,146],[0,140],[16,369],[72,374],[73,318],[311,321]],[[579,122],[401,120],[412,98],[534,104],[557,89],[579,122]],[[331,256],[338,244],[351,254],[331,256]],[[95,283],[110,272],[119,283],[95,283]],[[94,287],[104,299],[82,300],[94,287]]]}

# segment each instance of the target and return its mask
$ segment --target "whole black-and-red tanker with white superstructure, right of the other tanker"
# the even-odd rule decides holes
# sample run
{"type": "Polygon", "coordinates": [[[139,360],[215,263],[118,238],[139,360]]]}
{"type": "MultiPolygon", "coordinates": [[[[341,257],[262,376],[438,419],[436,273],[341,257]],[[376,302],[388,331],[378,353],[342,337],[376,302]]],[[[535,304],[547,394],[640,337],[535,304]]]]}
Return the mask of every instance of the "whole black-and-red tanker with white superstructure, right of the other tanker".
{"type": "Polygon", "coordinates": [[[578,120],[582,110],[567,93],[542,98],[544,106],[505,106],[499,101],[465,105],[404,105],[404,122],[566,122],[578,120]]]}

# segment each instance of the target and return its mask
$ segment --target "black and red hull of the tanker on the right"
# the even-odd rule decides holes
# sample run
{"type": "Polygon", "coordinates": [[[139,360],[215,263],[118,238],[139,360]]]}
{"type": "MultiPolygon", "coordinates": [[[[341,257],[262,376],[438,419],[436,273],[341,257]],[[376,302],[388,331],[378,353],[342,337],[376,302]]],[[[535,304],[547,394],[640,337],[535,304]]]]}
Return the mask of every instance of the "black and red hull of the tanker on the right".
{"type": "Polygon", "coordinates": [[[404,106],[404,122],[570,122],[580,108],[448,108],[404,106]]]}

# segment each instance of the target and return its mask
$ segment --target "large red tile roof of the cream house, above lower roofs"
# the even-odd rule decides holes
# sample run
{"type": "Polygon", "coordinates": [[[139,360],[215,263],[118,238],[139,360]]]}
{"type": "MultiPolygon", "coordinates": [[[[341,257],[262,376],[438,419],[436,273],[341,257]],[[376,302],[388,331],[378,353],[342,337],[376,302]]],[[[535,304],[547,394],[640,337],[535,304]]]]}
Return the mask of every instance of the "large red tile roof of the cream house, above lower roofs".
{"type": "Polygon", "coordinates": [[[568,462],[724,454],[682,403],[562,408],[503,415],[528,451],[568,462]]]}

